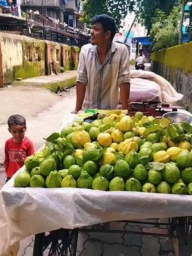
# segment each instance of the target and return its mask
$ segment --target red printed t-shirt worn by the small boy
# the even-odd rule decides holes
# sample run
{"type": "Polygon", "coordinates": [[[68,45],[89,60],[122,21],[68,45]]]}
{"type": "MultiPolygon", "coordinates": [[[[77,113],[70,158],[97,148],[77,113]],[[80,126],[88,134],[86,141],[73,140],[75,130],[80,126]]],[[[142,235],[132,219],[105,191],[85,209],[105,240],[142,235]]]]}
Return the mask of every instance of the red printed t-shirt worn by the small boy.
{"type": "Polygon", "coordinates": [[[24,165],[27,156],[34,154],[33,143],[26,137],[20,142],[10,138],[4,146],[4,168],[8,178],[11,178],[17,170],[24,165]]]}

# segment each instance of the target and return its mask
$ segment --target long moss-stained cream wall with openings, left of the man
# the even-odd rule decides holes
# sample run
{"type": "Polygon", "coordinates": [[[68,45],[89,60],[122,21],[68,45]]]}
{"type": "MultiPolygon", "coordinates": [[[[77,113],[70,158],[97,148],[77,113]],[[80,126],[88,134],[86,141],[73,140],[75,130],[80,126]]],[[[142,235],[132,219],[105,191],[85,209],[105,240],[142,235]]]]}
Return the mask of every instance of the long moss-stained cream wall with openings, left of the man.
{"type": "Polygon", "coordinates": [[[52,61],[58,73],[61,67],[77,69],[79,51],[79,47],[0,33],[0,87],[17,78],[51,75],[52,61]]]}

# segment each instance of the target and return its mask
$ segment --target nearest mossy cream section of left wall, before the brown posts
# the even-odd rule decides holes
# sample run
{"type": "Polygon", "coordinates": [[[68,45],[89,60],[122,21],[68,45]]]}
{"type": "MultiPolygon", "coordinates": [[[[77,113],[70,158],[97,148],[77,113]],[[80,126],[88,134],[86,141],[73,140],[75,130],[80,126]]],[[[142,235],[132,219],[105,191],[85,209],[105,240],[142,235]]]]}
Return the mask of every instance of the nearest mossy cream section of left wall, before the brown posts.
{"type": "Polygon", "coordinates": [[[3,83],[45,74],[44,42],[27,36],[0,33],[3,83]]]}

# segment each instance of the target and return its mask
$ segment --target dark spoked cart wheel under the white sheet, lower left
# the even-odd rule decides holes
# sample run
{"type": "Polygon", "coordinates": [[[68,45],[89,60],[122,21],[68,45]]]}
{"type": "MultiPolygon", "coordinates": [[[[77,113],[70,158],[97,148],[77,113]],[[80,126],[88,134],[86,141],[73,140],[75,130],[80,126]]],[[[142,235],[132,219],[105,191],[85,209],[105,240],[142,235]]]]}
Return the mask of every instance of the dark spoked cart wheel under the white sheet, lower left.
{"type": "Polygon", "coordinates": [[[35,236],[33,256],[76,256],[77,230],[58,229],[35,236]]]}

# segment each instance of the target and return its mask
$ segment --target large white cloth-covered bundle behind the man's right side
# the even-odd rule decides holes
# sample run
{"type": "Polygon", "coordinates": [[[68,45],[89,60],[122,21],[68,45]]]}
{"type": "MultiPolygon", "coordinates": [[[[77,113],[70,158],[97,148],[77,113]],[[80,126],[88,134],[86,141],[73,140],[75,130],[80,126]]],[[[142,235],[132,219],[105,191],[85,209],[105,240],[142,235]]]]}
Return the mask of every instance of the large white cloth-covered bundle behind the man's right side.
{"type": "Polygon", "coordinates": [[[172,84],[156,73],[145,70],[130,71],[131,101],[154,101],[157,96],[164,103],[182,100],[183,95],[177,93],[172,84]]]}

